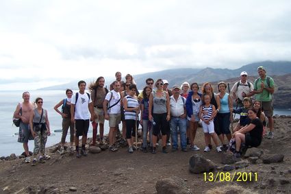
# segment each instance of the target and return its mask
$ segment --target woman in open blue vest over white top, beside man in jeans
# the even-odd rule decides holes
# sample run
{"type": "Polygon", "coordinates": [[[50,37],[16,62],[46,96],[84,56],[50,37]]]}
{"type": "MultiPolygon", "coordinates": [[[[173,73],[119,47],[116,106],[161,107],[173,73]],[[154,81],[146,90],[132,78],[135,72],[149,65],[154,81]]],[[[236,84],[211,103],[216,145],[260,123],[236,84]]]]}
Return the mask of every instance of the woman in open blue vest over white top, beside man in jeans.
{"type": "Polygon", "coordinates": [[[200,148],[197,145],[194,145],[194,139],[196,136],[198,122],[199,122],[199,110],[202,104],[201,93],[198,93],[199,86],[197,83],[191,84],[191,91],[188,94],[186,99],[186,110],[188,121],[190,123],[189,134],[190,134],[190,146],[194,151],[199,151],[200,148]]]}

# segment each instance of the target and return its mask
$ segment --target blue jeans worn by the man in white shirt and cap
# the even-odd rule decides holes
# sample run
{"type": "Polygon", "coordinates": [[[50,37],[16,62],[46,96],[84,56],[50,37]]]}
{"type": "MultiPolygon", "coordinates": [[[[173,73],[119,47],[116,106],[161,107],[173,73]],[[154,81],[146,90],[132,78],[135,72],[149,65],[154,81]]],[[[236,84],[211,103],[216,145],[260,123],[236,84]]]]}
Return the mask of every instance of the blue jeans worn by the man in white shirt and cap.
{"type": "Polygon", "coordinates": [[[187,138],[186,138],[186,130],[187,130],[187,120],[181,119],[180,117],[171,117],[170,118],[170,128],[172,134],[172,145],[174,148],[178,147],[178,127],[180,132],[180,142],[181,148],[187,147],[187,138]]]}

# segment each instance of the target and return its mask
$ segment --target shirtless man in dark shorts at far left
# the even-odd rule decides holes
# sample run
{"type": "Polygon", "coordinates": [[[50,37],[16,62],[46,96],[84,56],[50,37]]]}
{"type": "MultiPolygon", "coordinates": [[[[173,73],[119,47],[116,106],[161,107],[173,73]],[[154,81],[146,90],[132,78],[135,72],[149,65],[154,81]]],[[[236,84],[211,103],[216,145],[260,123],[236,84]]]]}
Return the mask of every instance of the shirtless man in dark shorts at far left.
{"type": "Polygon", "coordinates": [[[29,163],[30,156],[29,156],[29,149],[28,149],[28,140],[29,140],[29,136],[31,136],[31,132],[29,130],[29,117],[32,110],[34,110],[34,104],[29,101],[30,99],[29,92],[24,92],[22,94],[22,98],[23,98],[23,102],[19,103],[16,106],[16,110],[14,112],[14,118],[21,119],[17,141],[20,143],[23,143],[23,148],[25,151],[25,162],[29,163]]]}

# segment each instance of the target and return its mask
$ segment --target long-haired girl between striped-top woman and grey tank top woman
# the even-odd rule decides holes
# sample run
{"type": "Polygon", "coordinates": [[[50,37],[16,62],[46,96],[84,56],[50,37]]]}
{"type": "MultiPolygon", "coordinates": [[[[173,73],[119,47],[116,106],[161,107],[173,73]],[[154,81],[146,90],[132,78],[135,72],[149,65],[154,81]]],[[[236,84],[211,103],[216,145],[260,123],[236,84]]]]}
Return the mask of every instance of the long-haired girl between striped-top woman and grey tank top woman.
{"type": "Polygon", "coordinates": [[[141,119],[140,123],[142,124],[142,151],[147,152],[147,133],[149,132],[149,141],[150,146],[153,147],[151,141],[153,130],[151,127],[151,121],[149,121],[149,95],[151,95],[152,88],[150,86],[145,86],[142,90],[143,99],[140,103],[141,109],[141,119]]]}

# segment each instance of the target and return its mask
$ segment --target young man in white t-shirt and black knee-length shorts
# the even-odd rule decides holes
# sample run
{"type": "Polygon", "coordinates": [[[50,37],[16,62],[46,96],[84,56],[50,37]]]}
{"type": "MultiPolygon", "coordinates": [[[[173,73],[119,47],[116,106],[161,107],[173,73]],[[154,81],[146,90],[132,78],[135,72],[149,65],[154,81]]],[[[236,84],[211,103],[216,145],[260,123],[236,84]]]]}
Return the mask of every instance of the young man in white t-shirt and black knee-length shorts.
{"type": "Polygon", "coordinates": [[[86,142],[89,129],[89,119],[94,121],[94,110],[92,99],[88,93],[85,93],[86,82],[81,80],[78,82],[79,92],[72,97],[71,101],[71,121],[75,122],[75,145],[76,156],[81,158],[81,155],[87,156],[86,142]],[[79,152],[79,136],[82,136],[81,154],[79,152]]]}

